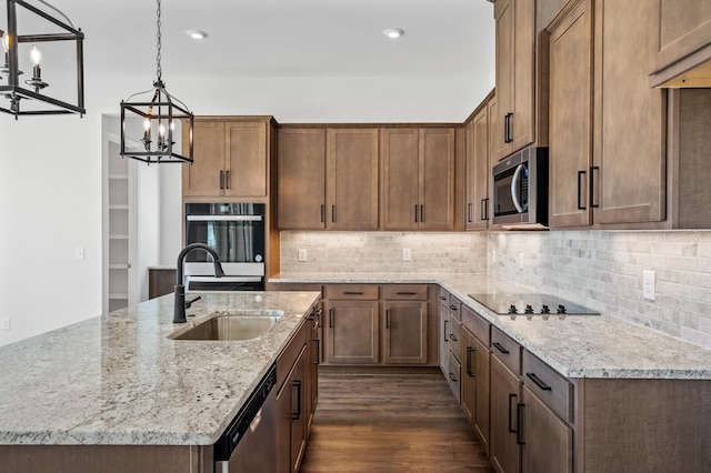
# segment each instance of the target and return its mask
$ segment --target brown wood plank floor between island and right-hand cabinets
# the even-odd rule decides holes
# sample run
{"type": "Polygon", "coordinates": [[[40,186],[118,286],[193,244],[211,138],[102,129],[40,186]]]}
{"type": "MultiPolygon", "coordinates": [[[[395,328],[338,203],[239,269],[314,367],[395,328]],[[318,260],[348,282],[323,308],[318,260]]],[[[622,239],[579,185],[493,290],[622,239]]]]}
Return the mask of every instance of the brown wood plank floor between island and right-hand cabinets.
{"type": "Polygon", "coordinates": [[[440,373],[319,372],[310,472],[493,472],[440,373]]]}

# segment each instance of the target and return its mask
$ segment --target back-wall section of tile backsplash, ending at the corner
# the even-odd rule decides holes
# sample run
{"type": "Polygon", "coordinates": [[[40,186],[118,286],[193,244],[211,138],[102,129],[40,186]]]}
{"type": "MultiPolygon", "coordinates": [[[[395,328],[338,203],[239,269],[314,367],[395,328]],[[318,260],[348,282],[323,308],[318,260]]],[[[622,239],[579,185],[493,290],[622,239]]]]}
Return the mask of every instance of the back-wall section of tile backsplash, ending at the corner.
{"type": "Polygon", "coordinates": [[[300,273],[485,273],[480,233],[282,232],[281,271],[300,273]],[[298,260],[299,249],[307,261],[298,260]],[[402,261],[410,249],[411,261],[402,261]]]}

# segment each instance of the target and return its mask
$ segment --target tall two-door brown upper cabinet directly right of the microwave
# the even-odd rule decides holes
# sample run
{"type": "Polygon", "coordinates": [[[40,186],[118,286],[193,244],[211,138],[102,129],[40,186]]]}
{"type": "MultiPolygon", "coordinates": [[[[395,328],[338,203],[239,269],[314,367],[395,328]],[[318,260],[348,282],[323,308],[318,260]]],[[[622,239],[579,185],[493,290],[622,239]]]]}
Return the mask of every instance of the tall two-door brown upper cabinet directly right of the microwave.
{"type": "Polygon", "coordinates": [[[651,2],[571,1],[548,28],[551,227],[665,218],[665,95],[639,53],[652,14],[651,2]]]}

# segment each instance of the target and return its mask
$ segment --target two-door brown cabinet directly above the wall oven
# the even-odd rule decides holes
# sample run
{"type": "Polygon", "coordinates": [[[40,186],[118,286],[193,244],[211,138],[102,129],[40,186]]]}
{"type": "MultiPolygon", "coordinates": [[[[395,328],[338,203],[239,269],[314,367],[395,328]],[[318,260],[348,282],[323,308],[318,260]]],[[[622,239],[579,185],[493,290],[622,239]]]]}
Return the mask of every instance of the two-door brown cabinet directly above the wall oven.
{"type": "Polygon", "coordinates": [[[271,118],[196,118],[194,163],[182,168],[183,197],[266,198],[270,123],[271,118]]]}

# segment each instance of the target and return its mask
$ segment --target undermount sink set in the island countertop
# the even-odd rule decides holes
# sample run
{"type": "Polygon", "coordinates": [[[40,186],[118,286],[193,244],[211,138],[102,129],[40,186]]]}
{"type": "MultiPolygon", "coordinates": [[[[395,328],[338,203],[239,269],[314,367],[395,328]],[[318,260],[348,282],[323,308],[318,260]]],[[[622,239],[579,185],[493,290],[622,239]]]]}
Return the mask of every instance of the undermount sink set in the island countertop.
{"type": "Polygon", "coordinates": [[[171,334],[173,340],[251,340],[279,322],[281,311],[256,311],[244,314],[218,314],[187,331],[171,334]]]}

